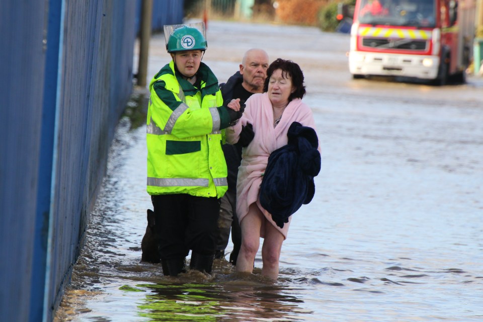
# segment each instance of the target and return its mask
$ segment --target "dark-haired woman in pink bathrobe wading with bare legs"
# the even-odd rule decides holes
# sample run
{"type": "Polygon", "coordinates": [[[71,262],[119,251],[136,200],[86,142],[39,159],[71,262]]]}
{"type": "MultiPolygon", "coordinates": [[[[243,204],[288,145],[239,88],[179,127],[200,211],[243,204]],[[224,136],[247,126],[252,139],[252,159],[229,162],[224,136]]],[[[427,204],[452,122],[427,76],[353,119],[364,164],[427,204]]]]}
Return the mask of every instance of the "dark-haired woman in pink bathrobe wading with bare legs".
{"type": "MultiPolygon", "coordinates": [[[[253,272],[260,237],[263,237],[262,275],[274,280],[278,278],[280,251],[287,238],[291,216],[283,228],[278,227],[258,197],[268,157],[272,151],[288,143],[287,131],[292,122],[315,129],[312,111],[301,100],[304,95],[303,73],[299,65],[279,58],[267,70],[264,93],[252,95],[241,119],[226,128],[229,143],[236,143],[241,127],[249,123],[255,132],[252,142],[242,151],[236,183],[236,213],[242,236],[237,272],[253,272]]],[[[239,100],[232,100],[228,107],[238,110],[239,100]]]]}

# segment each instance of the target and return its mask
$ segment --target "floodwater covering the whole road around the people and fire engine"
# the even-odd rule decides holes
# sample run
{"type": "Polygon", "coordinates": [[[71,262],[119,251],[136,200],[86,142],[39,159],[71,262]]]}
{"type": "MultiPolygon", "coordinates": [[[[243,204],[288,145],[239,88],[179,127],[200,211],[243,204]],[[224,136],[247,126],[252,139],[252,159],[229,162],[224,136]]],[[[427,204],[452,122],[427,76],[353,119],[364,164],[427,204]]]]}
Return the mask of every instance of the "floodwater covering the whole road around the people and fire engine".
{"type": "MultiPolygon", "coordinates": [[[[356,81],[348,42],[316,28],[208,25],[203,61],[221,82],[250,47],[298,62],[306,76],[322,169],[312,202],[293,215],[276,282],[260,276],[260,254],[250,277],[226,260],[215,261],[211,276],[177,278],[139,263],[152,208],[145,128],[131,129],[123,118],[55,319],[483,319],[483,79],[445,87],[356,81]]],[[[152,76],[168,61],[162,35],[153,36],[150,50],[152,76]]]]}

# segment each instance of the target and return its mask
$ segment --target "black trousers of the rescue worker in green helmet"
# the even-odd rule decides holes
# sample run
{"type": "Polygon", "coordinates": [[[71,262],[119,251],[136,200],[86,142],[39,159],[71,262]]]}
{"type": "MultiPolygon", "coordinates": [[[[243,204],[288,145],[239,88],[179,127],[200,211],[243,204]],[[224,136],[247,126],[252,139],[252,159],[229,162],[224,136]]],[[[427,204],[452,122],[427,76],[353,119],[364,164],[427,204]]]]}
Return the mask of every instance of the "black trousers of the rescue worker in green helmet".
{"type": "Polygon", "coordinates": [[[218,234],[219,199],[188,194],[151,196],[161,259],[180,259],[190,250],[214,255],[218,234]]]}

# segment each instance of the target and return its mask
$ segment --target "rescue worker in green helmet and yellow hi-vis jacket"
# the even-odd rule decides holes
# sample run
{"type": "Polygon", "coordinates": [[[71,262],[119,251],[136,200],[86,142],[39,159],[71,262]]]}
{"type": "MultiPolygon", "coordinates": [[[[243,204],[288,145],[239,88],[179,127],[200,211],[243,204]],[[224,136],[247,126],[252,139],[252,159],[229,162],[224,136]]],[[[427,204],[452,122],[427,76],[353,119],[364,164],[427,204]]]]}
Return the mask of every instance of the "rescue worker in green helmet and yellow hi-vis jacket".
{"type": "Polygon", "coordinates": [[[227,190],[221,145],[238,111],[223,106],[218,80],[201,62],[207,48],[203,23],[165,26],[172,61],[149,83],[147,192],[163,274],[190,268],[210,273],[219,200],[227,190]]]}

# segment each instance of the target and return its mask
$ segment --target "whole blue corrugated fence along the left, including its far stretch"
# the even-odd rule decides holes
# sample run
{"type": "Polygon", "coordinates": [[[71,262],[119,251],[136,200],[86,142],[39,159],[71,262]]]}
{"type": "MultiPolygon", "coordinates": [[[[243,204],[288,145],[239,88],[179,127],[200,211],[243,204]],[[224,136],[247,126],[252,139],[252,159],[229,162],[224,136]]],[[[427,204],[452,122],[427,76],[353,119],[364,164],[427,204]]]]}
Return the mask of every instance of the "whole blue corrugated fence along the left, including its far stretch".
{"type": "MultiPolygon", "coordinates": [[[[52,320],[70,280],[132,91],[140,3],[0,0],[2,320],[52,320]]],[[[153,25],[182,22],[182,1],[154,8],[153,25]]]]}

